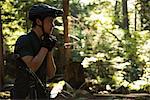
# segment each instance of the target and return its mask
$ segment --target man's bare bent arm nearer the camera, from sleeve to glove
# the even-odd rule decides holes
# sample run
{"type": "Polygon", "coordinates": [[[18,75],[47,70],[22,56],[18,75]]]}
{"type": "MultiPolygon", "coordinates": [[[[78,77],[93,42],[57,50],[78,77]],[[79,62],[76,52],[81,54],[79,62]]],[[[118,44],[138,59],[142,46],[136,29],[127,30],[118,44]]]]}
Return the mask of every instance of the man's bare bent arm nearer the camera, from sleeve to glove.
{"type": "Polygon", "coordinates": [[[25,62],[25,64],[32,69],[32,71],[36,72],[42,62],[44,61],[45,56],[47,55],[48,49],[42,47],[38,54],[33,56],[24,56],[21,59],[25,62]]]}

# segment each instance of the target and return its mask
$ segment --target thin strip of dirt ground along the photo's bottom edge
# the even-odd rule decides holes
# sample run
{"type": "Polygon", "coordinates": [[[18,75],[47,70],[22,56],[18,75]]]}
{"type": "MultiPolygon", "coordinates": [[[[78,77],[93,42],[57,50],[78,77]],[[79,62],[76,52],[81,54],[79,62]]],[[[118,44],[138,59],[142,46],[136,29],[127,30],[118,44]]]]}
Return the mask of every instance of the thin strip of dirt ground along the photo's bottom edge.
{"type": "MultiPolygon", "coordinates": [[[[0,92],[0,99],[10,99],[10,92],[0,92]]],[[[150,94],[147,93],[130,93],[130,94],[86,94],[66,97],[60,94],[52,100],[150,100],[150,94]]]]}

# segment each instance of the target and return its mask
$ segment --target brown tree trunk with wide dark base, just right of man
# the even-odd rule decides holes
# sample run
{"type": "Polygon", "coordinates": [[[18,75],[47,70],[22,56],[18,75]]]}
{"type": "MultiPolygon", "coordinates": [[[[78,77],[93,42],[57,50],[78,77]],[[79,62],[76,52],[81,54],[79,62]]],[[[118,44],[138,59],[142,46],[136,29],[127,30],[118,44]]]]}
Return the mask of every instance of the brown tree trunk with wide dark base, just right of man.
{"type": "Polygon", "coordinates": [[[64,79],[69,83],[73,88],[79,88],[84,83],[83,75],[83,66],[81,63],[72,62],[71,59],[71,49],[70,49],[70,37],[68,36],[68,13],[69,13],[69,0],[63,0],[63,9],[64,9],[64,39],[65,39],[65,70],[64,70],[64,79]]]}

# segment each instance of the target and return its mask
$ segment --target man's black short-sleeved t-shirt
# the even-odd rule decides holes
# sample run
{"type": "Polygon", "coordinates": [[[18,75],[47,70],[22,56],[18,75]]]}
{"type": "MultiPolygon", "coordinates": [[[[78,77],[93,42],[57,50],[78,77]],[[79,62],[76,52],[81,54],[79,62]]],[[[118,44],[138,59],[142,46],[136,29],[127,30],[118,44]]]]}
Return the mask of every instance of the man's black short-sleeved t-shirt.
{"type": "MultiPolygon", "coordinates": [[[[14,53],[18,54],[20,57],[24,56],[33,56],[35,57],[39,50],[41,49],[41,41],[35,34],[35,32],[31,31],[27,35],[20,36],[15,44],[14,53]]],[[[17,68],[22,67],[22,69],[18,68],[16,72],[16,81],[15,81],[15,95],[18,98],[24,98],[28,95],[31,81],[34,81],[31,78],[30,74],[23,70],[23,67],[27,67],[26,64],[21,60],[17,60],[16,62],[17,68]]],[[[46,57],[39,67],[39,69],[35,72],[39,79],[42,81],[44,85],[46,85],[46,57]]],[[[17,98],[17,97],[16,97],[17,98]]]]}

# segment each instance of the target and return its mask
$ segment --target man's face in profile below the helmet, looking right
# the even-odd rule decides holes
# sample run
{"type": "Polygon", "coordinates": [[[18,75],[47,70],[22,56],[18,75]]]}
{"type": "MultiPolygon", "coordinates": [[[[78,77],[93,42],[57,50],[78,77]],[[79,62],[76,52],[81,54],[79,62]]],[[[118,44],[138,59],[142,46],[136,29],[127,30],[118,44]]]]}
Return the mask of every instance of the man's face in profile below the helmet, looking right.
{"type": "Polygon", "coordinates": [[[46,17],[44,19],[44,31],[48,34],[52,34],[53,29],[55,27],[55,18],[52,17],[46,17]]]}

